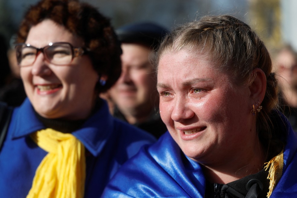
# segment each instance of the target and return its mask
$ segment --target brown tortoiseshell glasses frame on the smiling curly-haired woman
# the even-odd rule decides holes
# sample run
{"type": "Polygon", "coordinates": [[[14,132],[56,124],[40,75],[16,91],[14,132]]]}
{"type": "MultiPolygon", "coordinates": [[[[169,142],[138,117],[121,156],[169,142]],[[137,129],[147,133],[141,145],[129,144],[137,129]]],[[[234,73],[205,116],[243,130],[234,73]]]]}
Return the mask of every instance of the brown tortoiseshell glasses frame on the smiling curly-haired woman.
{"type": "Polygon", "coordinates": [[[61,66],[62,66],[62,65],[68,65],[68,64],[70,64],[70,63],[73,61],[73,59],[74,59],[75,57],[82,56],[82,55],[84,55],[84,54],[87,53],[87,50],[86,50],[84,47],[74,47],[71,43],[67,43],[67,42],[49,43],[47,46],[44,46],[44,47],[42,47],[42,48],[37,48],[37,47],[35,47],[35,46],[33,46],[33,45],[30,45],[29,43],[18,43],[18,44],[15,45],[14,49],[15,49],[15,51],[16,51],[16,57],[17,57],[18,65],[19,65],[20,67],[27,67],[27,66],[31,66],[31,65],[33,65],[34,62],[36,61],[37,56],[39,55],[39,53],[43,53],[44,58],[45,58],[49,63],[54,64],[54,65],[61,65],[61,66]],[[71,48],[71,53],[72,53],[72,59],[71,59],[71,61],[70,61],[69,63],[67,63],[67,64],[56,64],[56,63],[52,63],[51,60],[49,59],[49,57],[47,57],[46,53],[44,53],[44,49],[46,49],[46,48],[48,48],[48,47],[50,47],[50,46],[56,45],[56,44],[68,44],[68,45],[70,46],[70,48],[71,48]],[[19,56],[18,54],[19,54],[19,53],[18,53],[18,51],[17,51],[18,46],[27,46],[27,47],[35,48],[35,49],[37,50],[37,51],[36,51],[35,59],[34,59],[34,61],[33,61],[30,65],[24,65],[24,66],[21,66],[21,65],[20,65],[20,62],[19,62],[19,60],[18,60],[18,56],[19,56]]]}

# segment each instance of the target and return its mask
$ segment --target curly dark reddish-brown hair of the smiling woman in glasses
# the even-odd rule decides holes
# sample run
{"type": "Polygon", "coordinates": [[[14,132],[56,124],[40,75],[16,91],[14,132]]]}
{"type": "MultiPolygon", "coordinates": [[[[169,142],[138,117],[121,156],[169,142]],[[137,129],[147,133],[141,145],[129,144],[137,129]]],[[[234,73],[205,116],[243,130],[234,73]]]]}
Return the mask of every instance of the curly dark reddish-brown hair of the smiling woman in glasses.
{"type": "Polygon", "coordinates": [[[17,43],[24,43],[30,28],[45,19],[64,26],[84,40],[95,71],[99,76],[107,76],[104,86],[97,83],[98,92],[106,91],[117,81],[121,73],[122,50],[108,18],[93,6],[78,0],[42,0],[26,12],[17,43]]]}

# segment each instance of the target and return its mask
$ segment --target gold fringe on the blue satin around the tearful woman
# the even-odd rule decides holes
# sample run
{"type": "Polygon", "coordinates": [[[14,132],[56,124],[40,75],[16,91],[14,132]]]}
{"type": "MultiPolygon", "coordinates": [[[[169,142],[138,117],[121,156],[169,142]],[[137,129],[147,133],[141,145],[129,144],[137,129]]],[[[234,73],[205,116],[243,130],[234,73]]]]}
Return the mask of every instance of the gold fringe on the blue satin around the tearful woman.
{"type": "Polygon", "coordinates": [[[265,171],[269,168],[267,179],[270,180],[269,191],[267,193],[267,197],[269,198],[274,187],[280,180],[283,174],[283,166],[284,166],[284,153],[283,150],[272,158],[269,162],[265,163],[265,171]]]}

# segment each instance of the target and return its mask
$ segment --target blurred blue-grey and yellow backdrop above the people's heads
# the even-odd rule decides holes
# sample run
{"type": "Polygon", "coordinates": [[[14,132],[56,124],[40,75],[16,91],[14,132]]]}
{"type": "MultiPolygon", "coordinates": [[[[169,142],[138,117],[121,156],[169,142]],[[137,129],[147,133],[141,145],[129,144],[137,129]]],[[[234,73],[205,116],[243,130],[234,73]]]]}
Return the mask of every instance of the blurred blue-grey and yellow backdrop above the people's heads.
{"type": "MultiPolygon", "coordinates": [[[[0,0],[0,33],[9,43],[26,10],[38,0],[0,0]]],[[[206,14],[232,14],[251,25],[271,50],[284,43],[297,49],[295,0],[82,0],[96,6],[115,28],[152,21],[168,29],[206,14]]]]}

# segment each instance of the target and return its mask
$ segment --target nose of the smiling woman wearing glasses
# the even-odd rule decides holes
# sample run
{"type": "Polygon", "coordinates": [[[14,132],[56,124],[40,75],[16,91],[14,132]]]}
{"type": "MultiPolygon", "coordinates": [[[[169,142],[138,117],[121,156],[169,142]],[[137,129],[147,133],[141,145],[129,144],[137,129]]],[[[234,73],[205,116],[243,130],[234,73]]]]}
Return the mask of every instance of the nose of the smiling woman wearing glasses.
{"type": "Polygon", "coordinates": [[[46,59],[43,53],[39,53],[35,59],[35,62],[32,65],[32,75],[50,75],[52,70],[48,67],[46,59]]]}

